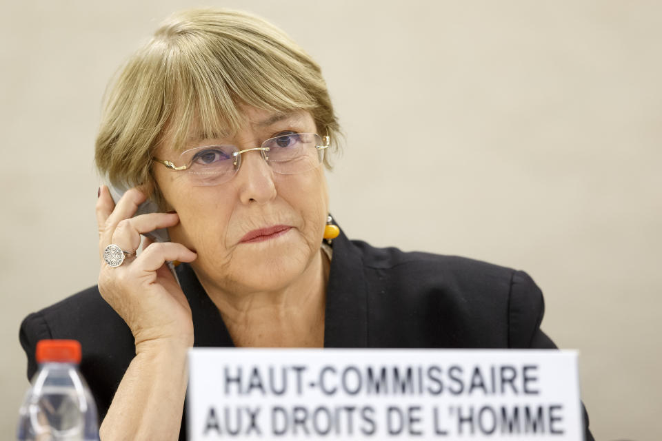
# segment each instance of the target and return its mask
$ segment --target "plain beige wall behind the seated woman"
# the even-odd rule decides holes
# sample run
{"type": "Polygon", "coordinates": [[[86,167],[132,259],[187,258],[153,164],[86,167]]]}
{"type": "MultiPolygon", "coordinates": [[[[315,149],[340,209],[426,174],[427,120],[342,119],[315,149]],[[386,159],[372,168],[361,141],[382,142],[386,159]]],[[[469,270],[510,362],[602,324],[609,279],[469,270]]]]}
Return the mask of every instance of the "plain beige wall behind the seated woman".
{"type": "MultiPolygon", "coordinates": [[[[19,322],[95,283],[92,144],[114,70],[189,1],[3,3],[0,431],[19,322]]],[[[662,3],[209,1],[271,19],[321,63],[347,134],[345,232],[528,271],[543,329],[581,351],[596,438],[657,440],[662,3]]]]}

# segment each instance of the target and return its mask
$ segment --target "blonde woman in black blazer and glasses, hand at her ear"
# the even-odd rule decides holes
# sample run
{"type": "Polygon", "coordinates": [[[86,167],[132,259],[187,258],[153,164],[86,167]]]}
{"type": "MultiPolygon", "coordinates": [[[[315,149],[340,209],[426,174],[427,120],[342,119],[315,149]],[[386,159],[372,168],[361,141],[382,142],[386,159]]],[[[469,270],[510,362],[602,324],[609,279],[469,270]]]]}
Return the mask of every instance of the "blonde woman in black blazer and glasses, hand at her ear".
{"type": "Polygon", "coordinates": [[[99,189],[99,285],[24,320],[28,376],[39,339],[80,340],[101,438],[166,440],[184,437],[192,345],[554,347],[523,272],[333,234],[338,136],[319,66],[281,30],[227,10],[168,20],[101,121],[97,166],[132,188],[99,189]],[[136,256],[159,229],[170,240],[136,256]]]}

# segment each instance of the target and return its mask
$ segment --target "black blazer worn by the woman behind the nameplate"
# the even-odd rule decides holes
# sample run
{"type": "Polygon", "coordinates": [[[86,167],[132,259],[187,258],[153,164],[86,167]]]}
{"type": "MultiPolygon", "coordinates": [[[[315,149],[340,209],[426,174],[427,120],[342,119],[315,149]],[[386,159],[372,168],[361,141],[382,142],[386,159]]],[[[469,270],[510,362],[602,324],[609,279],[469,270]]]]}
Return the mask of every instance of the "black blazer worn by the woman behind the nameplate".
{"type": "MultiPolygon", "coordinates": [[[[177,274],[191,306],[194,346],[234,346],[191,267],[179,265],[177,274]]],[[[556,348],[540,329],[543,296],[528,274],[477,260],[375,248],[341,233],[326,295],[324,347],[556,348]]],[[[134,357],[129,328],[91,287],[23,320],[28,378],[43,338],[81,342],[80,369],[103,418],[134,357]]]]}

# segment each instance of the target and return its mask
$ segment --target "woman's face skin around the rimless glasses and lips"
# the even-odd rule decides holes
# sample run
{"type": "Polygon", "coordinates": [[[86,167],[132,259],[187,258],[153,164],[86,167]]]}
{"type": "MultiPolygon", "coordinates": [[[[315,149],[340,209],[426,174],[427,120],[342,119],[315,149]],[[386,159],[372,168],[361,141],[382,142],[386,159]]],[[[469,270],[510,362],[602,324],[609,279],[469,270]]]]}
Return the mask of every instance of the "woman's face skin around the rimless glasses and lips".
{"type": "MultiPolygon", "coordinates": [[[[199,139],[188,148],[232,144],[245,150],[283,132],[317,133],[308,112],[281,119],[244,107],[243,116],[241,130],[230,139],[199,139]]],[[[179,153],[161,143],[154,156],[176,162],[179,153]]],[[[237,294],[281,289],[319,254],[328,214],[322,165],[300,174],[278,174],[256,150],[243,153],[239,172],[220,185],[191,185],[187,172],[159,164],[154,165],[154,176],[179,214],[179,225],[169,230],[170,240],[197,252],[192,265],[203,283],[237,294]],[[276,234],[250,240],[256,230],[273,227],[276,234]]]]}

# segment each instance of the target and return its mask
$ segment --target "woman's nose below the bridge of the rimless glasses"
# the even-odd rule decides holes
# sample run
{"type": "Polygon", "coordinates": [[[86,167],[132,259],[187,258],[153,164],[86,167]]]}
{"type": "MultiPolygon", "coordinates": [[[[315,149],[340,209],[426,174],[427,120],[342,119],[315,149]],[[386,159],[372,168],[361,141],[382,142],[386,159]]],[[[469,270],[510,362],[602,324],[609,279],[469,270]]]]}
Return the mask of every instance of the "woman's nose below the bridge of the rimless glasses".
{"type": "Polygon", "coordinates": [[[239,161],[239,170],[234,179],[239,185],[241,203],[248,204],[254,201],[262,204],[276,197],[274,172],[259,150],[243,152],[239,161]]]}

